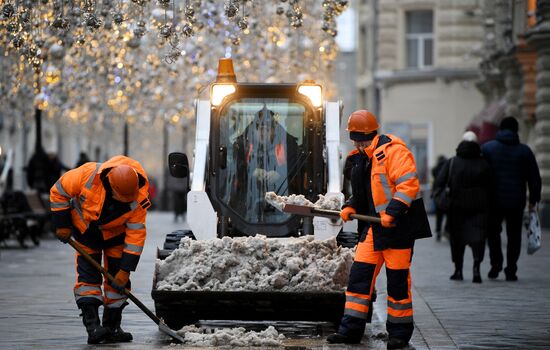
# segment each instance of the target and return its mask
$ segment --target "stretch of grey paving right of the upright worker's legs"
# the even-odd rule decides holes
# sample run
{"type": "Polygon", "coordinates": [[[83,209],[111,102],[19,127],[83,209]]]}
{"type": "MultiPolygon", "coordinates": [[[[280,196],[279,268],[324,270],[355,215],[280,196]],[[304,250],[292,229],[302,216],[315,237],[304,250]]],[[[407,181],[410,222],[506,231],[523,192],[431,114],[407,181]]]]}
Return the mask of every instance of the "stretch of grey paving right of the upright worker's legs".
{"type": "Polygon", "coordinates": [[[469,248],[464,281],[451,281],[448,241],[417,242],[412,269],[415,321],[429,348],[550,349],[550,230],[543,231],[542,248],[534,255],[527,255],[526,241],[524,235],[517,282],[505,281],[503,273],[496,280],[487,278],[486,250],[482,284],[471,282],[469,248]]]}

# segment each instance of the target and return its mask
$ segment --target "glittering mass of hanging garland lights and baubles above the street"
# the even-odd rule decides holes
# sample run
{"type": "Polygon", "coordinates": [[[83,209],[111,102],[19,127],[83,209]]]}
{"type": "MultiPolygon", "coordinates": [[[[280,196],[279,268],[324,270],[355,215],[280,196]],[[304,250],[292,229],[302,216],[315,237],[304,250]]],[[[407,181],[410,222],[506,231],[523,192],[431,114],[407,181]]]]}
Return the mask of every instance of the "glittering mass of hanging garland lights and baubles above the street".
{"type": "MultiPolygon", "coordinates": [[[[232,57],[239,81],[314,79],[330,95],[347,0],[0,0],[0,103],[90,130],[188,123],[232,57]],[[17,5],[16,5],[17,3],[17,5]]],[[[330,97],[330,96],[329,96],[330,97]]]]}

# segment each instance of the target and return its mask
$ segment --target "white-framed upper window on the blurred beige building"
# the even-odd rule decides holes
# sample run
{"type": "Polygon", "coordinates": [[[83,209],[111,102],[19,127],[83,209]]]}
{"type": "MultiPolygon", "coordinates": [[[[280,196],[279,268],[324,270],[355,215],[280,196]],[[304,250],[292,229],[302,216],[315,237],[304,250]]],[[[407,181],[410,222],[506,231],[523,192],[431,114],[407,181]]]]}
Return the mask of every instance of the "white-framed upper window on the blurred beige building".
{"type": "Polygon", "coordinates": [[[407,68],[425,68],[433,65],[433,11],[406,13],[407,68]]]}

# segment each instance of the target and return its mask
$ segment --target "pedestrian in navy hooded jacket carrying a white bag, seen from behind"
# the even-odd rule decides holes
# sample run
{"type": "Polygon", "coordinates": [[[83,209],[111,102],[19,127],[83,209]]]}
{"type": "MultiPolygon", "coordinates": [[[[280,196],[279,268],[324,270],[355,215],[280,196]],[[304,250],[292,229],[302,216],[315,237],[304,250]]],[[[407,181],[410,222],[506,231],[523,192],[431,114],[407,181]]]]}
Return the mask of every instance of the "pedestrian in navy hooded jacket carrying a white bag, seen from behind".
{"type": "Polygon", "coordinates": [[[508,244],[504,274],[507,281],[517,281],[517,261],[521,251],[521,225],[527,201],[527,187],[529,210],[536,210],[541,197],[541,177],[535,155],[529,146],[519,142],[518,130],[516,118],[506,117],[500,123],[496,139],[481,147],[483,156],[495,174],[496,185],[496,201],[487,238],[491,259],[488,277],[491,279],[498,277],[504,263],[500,232],[502,222],[505,221],[508,244]]]}

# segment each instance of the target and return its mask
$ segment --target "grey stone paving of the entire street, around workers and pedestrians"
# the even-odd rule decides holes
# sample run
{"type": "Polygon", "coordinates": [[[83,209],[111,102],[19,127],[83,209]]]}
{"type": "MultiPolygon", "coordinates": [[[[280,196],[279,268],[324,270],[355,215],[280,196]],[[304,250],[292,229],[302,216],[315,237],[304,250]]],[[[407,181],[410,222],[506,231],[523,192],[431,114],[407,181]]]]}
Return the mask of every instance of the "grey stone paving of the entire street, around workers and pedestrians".
{"type": "MultiPolygon", "coordinates": [[[[153,309],[151,284],[156,247],[166,233],[182,228],[170,213],[151,212],[149,236],[140,266],[132,274],[134,294],[153,309]]],[[[525,240],[524,240],[525,243],[525,240]]],[[[16,243],[13,244],[16,246],[16,243]]],[[[74,304],[74,257],[69,246],[46,239],[38,248],[0,249],[0,349],[159,349],[174,348],[155,324],[131,305],[124,313],[129,344],[88,346],[74,304]]],[[[471,282],[472,257],[465,256],[464,281],[450,281],[453,272],[448,241],[417,242],[413,258],[416,329],[410,349],[550,349],[550,231],[534,255],[522,248],[517,282],[486,278],[471,282]]],[[[373,324],[361,345],[328,345],[330,327],[319,336],[285,341],[286,349],[385,349],[385,271],[377,282],[373,324]]],[[[304,330],[308,325],[304,325],[304,330]]],[[[319,327],[313,327],[318,329],[319,327]]],[[[189,349],[190,347],[176,347],[189,349]]],[[[197,348],[194,348],[197,349],[197,348]]]]}

